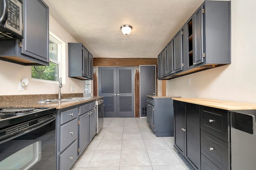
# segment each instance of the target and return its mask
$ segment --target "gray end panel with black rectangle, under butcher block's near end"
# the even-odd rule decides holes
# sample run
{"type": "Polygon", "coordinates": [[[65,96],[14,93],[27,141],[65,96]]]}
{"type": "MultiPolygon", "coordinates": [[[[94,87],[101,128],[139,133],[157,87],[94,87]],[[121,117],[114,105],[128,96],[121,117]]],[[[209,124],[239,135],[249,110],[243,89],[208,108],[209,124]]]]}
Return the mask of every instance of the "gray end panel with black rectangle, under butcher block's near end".
{"type": "Polygon", "coordinates": [[[255,170],[256,111],[231,112],[231,169],[255,170]]]}

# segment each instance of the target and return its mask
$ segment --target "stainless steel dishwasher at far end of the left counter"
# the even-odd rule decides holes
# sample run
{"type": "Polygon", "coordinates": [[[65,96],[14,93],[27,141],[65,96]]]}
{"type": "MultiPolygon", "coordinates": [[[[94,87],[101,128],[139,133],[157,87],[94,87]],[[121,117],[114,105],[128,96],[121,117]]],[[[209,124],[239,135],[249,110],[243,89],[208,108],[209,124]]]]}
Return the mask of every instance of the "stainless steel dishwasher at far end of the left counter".
{"type": "Polygon", "coordinates": [[[96,117],[96,133],[100,132],[100,129],[103,126],[103,100],[96,100],[96,113],[97,113],[97,117],[96,117]]]}

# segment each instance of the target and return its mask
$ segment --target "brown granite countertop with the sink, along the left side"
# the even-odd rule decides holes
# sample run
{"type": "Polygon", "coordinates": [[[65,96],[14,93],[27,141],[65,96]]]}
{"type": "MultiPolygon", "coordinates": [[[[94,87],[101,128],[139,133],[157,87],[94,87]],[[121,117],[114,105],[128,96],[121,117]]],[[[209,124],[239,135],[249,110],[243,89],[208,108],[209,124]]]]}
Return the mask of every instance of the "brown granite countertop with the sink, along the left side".
{"type": "Polygon", "coordinates": [[[29,100],[29,101],[15,101],[15,102],[1,102],[0,107],[55,107],[56,109],[63,109],[65,107],[70,107],[78,104],[83,104],[86,102],[102,99],[104,96],[93,96],[92,98],[79,101],[61,101],[61,102],[46,102],[38,103],[39,100],[29,100]]]}

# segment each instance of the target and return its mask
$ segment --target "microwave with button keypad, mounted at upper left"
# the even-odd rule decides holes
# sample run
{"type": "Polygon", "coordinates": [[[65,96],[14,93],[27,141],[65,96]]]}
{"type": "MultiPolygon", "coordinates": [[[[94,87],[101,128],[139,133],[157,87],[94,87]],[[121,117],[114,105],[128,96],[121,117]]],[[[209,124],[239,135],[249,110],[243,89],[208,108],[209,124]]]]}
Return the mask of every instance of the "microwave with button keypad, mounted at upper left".
{"type": "Polygon", "coordinates": [[[0,39],[22,38],[22,2],[0,0],[0,39]]]}

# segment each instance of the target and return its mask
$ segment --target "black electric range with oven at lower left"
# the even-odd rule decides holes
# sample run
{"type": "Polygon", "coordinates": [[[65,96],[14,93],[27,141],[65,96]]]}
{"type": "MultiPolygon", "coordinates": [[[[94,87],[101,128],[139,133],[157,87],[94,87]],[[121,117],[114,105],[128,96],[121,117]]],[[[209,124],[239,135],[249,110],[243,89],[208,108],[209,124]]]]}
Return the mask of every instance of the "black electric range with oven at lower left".
{"type": "Polygon", "coordinates": [[[0,108],[0,169],[56,169],[55,108],[0,108]]]}

